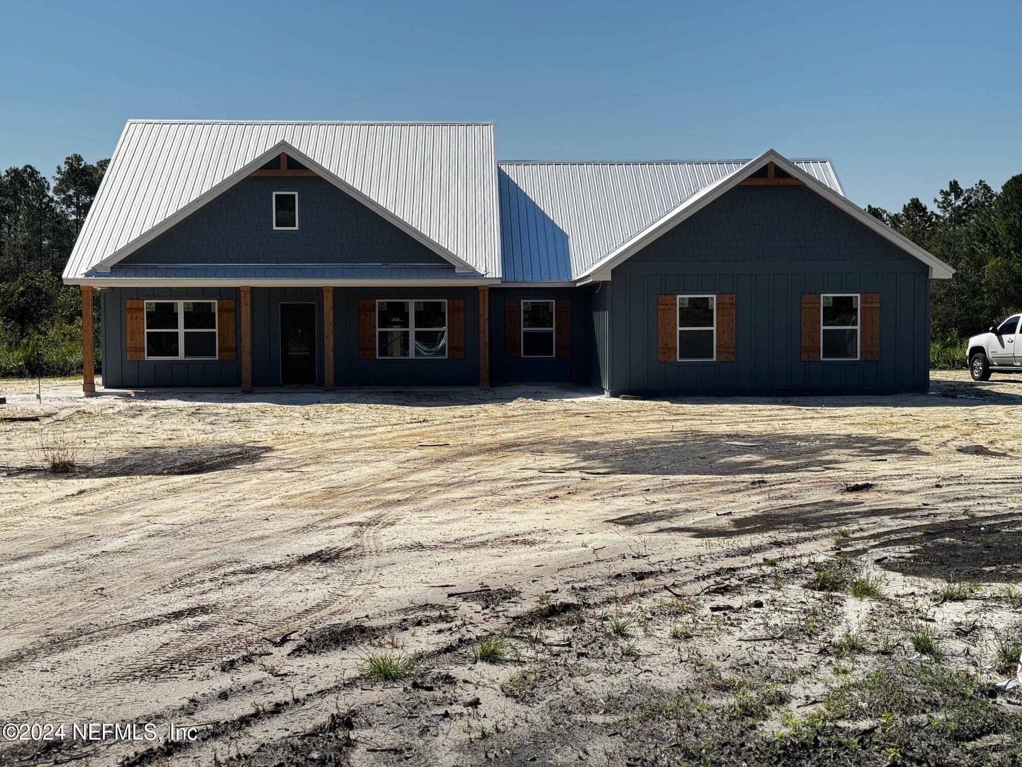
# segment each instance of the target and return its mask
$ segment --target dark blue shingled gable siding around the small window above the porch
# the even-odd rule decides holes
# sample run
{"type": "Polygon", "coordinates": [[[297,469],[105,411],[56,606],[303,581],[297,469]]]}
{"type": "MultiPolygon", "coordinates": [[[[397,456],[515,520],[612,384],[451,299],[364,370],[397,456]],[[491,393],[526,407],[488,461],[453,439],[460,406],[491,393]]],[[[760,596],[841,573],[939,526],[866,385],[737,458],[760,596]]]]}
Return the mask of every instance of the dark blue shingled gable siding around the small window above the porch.
{"type": "MultiPolygon", "coordinates": [[[[270,165],[277,164],[275,159],[270,165]]],[[[111,268],[181,264],[426,264],[453,269],[434,251],[312,173],[249,176],[111,268]],[[297,192],[297,230],[273,229],[274,191],[297,192]]]]}

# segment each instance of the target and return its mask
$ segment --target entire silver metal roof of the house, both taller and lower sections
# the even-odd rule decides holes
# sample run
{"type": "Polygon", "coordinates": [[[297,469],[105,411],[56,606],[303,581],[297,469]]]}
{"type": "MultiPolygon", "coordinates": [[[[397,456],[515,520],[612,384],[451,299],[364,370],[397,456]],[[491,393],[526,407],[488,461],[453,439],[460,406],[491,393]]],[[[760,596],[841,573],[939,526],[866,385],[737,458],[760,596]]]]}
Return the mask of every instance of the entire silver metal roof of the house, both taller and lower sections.
{"type": "Polygon", "coordinates": [[[606,279],[613,263],[768,161],[802,176],[818,193],[929,264],[934,276],[954,273],[846,200],[826,160],[788,161],[770,150],[755,160],[497,163],[491,123],[133,120],[121,135],[63,277],[95,284],[466,278],[570,283],[594,274],[606,279]],[[216,264],[215,254],[205,265],[117,266],[280,151],[450,266],[225,266],[216,264]]]}

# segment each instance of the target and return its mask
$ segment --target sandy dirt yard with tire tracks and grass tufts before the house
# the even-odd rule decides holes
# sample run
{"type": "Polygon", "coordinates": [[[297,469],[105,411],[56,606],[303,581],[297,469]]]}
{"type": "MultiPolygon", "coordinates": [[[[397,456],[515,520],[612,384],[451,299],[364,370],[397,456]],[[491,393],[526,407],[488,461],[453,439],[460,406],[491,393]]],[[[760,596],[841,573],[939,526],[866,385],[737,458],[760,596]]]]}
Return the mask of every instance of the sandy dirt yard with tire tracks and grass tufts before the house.
{"type": "Polygon", "coordinates": [[[0,395],[4,765],[1022,763],[1022,376],[0,395]]]}

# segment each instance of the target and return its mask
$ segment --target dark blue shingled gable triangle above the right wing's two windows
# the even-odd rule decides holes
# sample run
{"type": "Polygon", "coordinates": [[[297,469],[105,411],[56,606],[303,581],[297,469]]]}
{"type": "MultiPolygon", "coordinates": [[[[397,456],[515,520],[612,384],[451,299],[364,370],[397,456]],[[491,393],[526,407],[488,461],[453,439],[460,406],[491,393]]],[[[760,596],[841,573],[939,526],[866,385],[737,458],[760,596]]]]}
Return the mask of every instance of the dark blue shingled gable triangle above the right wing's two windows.
{"type": "MultiPolygon", "coordinates": [[[[739,185],[628,263],[915,261],[804,185],[739,185]]],[[[921,262],[919,269],[925,271],[921,262]]]]}

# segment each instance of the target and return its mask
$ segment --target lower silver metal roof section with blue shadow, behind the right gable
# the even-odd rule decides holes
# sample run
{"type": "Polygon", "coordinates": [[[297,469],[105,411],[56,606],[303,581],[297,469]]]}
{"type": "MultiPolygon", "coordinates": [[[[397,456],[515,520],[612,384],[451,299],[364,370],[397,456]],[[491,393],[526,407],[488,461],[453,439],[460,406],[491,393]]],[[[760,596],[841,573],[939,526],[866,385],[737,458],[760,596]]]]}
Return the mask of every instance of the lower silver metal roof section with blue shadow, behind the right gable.
{"type": "MultiPolygon", "coordinates": [[[[498,163],[503,279],[573,279],[750,162],[498,163]]],[[[829,161],[792,163],[843,195],[829,161]]]]}

